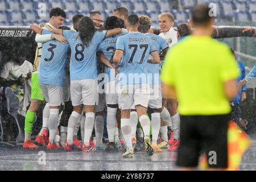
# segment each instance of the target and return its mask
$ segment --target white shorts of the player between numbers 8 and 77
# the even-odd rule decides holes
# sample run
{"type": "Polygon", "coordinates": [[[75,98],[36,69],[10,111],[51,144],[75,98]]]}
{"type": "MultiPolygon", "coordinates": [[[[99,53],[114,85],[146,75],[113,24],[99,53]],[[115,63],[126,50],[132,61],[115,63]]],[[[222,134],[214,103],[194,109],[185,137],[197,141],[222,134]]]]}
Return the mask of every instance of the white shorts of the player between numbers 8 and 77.
{"type": "Polygon", "coordinates": [[[117,86],[118,86],[118,80],[113,80],[110,82],[106,82],[104,84],[106,104],[118,104],[117,86]]]}

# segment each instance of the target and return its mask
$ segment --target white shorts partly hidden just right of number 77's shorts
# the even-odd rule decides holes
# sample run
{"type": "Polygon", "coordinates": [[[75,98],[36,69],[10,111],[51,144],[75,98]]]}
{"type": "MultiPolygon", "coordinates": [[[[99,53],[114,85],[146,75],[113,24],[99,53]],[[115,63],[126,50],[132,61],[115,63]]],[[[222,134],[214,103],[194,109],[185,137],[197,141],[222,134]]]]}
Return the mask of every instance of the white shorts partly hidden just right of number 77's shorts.
{"type": "Polygon", "coordinates": [[[151,109],[162,108],[162,89],[161,85],[150,85],[150,100],[148,107],[151,109]]]}

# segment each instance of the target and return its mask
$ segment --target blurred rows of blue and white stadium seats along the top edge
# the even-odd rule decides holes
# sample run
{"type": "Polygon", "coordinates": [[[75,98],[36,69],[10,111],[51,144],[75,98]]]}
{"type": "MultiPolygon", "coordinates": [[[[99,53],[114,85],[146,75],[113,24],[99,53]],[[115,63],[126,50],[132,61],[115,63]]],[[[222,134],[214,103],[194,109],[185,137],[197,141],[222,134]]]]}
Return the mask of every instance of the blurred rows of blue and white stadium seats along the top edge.
{"type": "MultiPolygon", "coordinates": [[[[100,11],[104,16],[112,15],[113,9],[118,6],[125,6],[131,13],[143,13],[151,16],[152,24],[158,22],[158,14],[168,11],[175,14],[177,22],[187,21],[187,11],[196,3],[215,3],[217,7],[218,21],[255,21],[256,0],[181,0],[179,9],[172,9],[171,1],[169,0],[0,0],[0,26],[12,25],[28,25],[31,21],[45,22],[45,16],[40,17],[39,12],[42,9],[42,4],[48,11],[51,7],[61,7],[67,13],[86,13],[90,11],[100,11]],[[177,15],[176,15],[177,14],[177,15]]],[[[67,23],[71,24],[71,17],[68,16],[67,23]]],[[[158,23],[156,23],[158,24],[158,23]]]]}

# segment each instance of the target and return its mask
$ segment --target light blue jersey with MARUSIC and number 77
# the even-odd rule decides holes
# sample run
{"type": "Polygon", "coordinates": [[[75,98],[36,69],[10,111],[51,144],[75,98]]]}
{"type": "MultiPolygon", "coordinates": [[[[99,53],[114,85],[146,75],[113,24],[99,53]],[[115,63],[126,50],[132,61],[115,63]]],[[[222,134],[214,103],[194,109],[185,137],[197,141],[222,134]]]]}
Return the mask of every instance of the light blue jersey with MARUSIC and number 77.
{"type": "Polygon", "coordinates": [[[117,39],[117,49],[123,51],[119,84],[146,84],[147,60],[156,51],[150,37],[140,32],[129,32],[117,39]]]}

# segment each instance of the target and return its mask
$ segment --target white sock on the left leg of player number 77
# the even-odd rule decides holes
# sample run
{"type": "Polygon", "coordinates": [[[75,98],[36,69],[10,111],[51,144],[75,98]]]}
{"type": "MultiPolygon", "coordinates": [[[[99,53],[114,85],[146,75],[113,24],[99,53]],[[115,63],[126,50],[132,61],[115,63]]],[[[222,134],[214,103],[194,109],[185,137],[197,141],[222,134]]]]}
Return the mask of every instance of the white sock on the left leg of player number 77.
{"type": "Polygon", "coordinates": [[[131,124],[130,119],[121,118],[121,129],[123,132],[123,138],[127,144],[128,150],[133,150],[133,144],[131,143],[131,124]]]}

